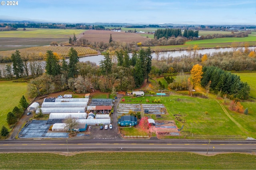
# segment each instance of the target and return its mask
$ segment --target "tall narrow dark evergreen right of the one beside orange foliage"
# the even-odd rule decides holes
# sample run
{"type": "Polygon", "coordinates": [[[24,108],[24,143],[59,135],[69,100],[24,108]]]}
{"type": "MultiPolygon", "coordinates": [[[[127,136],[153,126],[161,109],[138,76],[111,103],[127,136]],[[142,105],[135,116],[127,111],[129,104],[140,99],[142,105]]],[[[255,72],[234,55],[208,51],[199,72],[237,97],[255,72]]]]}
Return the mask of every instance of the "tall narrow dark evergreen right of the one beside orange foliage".
{"type": "Polygon", "coordinates": [[[74,78],[78,74],[77,63],[79,62],[79,58],[76,50],[73,47],[70,48],[70,51],[68,52],[68,57],[69,57],[68,78],[70,77],[74,78]]]}

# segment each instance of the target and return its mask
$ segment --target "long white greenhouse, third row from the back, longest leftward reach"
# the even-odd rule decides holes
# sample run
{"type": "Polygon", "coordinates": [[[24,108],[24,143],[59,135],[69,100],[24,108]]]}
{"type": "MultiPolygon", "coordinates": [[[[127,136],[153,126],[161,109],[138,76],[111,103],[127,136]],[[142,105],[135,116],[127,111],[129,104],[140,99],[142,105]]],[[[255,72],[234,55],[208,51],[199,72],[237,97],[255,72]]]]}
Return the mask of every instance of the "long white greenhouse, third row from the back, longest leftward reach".
{"type": "MultiPolygon", "coordinates": [[[[50,113],[84,113],[84,107],[43,107],[40,108],[43,114],[50,113]]],[[[36,109],[36,113],[39,113],[39,108],[36,109]]]]}

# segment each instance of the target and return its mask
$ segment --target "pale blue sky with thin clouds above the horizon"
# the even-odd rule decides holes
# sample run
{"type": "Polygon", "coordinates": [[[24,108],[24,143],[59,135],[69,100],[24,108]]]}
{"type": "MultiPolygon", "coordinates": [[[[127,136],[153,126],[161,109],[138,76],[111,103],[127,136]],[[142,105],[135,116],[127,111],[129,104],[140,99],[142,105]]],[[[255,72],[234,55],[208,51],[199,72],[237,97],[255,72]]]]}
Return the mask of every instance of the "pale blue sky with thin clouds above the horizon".
{"type": "Polygon", "coordinates": [[[256,0],[1,0],[0,19],[56,23],[256,25],[256,0]]]}

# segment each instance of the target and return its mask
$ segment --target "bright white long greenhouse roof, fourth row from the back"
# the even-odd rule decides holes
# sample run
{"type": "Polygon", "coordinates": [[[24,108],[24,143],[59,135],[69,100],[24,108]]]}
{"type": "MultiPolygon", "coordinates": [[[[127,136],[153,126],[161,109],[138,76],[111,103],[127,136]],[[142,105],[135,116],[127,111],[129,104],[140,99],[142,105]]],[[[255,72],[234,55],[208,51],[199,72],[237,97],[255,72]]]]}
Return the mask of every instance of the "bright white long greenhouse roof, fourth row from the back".
{"type": "Polygon", "coordinates": [[[74,119],[86,119],[87,113],[50,113],[49,119],[66,119],[70,116],[74,119]]]}

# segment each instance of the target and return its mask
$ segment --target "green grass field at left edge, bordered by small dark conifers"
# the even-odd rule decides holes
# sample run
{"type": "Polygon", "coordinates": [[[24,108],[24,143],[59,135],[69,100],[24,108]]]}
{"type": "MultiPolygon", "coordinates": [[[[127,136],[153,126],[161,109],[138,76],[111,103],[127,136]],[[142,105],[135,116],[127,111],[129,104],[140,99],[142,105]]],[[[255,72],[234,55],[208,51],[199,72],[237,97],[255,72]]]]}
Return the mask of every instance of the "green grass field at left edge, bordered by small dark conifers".
{"type": "Polygon", "coordinates": [[[0,125],[9,128],[6,122],[7,114],[12,111],[15,106],[19,105],[22,95],[25,96],[27,102],[27,83],[14,83],[12,81],[0,81],[0,125]]]}

